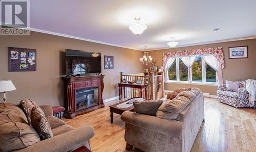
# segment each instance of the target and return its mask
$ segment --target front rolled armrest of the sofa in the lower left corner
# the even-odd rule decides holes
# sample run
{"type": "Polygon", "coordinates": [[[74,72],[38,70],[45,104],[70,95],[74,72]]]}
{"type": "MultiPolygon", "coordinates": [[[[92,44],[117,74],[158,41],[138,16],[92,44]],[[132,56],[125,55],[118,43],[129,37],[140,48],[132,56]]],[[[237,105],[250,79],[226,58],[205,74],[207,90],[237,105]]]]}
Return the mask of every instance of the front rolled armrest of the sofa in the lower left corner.
{"type": "MultiPolygon", "coordinates": [[[[19,152],[54,152],[70,151],[87,143],[94,136],[92,126],[82,126],[72,131],[54,136],[52,138],[39,141],[32,146],[17,150],[19,152]]],[[[89,148],[89,147],[88,147],[89,148]]]]}

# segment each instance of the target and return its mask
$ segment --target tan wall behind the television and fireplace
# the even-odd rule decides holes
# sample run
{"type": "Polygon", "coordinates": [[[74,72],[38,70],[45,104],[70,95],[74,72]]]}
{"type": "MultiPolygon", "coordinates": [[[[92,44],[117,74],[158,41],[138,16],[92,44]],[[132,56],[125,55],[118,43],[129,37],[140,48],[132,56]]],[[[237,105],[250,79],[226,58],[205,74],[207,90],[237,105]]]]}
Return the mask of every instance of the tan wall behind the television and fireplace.
{"type": "MultiPolygon", "coordinates": [[[[15,91],[7,93],[9,102],[30,98],[36,103],[64,105],[65,49],[97,51],[102,55],[103,99],[118,96],[119,72],[141,73],[141,51],[96,44],[94,42],[31,32],[30,36],[0,36],[0,79],[12,80],[15,91]],[[36,72],[8,72],[8,47],[36,49],[36,72]],[[114,56],[114,70],[104,70],[103,55],[114,56]]],[[[2,97],[3,94],[0,94],[2,97]]],[[[2,100],[2,99],[0,99],[2,100]]]]}

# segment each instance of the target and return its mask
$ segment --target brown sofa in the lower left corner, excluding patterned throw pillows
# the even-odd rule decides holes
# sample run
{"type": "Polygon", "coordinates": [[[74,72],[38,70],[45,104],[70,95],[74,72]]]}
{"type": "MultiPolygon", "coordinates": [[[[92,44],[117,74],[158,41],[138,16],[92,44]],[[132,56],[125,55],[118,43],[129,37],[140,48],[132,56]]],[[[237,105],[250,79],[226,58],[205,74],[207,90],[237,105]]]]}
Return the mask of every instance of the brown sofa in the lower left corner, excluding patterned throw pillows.
{"type": "Polygon", "coordinates": [[[53,133],[52,138],[42,141],[35,129],[28,124],[27,117],[18,105],[0,103],[0,151],[63,152],[83,145],[90,149],[89,140],[94,136],[92,126],[74,129],[52,116],[50,105],[42,105],[40,108],[44,111],[53,133]]]}

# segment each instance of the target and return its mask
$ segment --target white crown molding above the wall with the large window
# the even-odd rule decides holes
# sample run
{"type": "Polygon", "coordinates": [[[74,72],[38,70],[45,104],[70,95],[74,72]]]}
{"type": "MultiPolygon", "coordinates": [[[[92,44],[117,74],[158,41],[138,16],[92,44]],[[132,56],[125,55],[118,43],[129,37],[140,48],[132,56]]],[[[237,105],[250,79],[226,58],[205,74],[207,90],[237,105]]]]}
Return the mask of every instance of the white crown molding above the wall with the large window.
{"type": "Polygon", "coordinates": [[[159,49],[151,49],[151,50],[147,50],[147,51],[156,51],[156,50],[164,50],[164,49],[183,48],[183,47],[189,47],[189,46],[217,44],[217,43],[221,43],[221,42],[255,39],[255,38],[256,38],[256,35],[255,36],[250,36],[250,37],[242,37],[242,38],[232,38],[232,39],[224,39],[224,40],[216,40],[216,41],[199,42],[199,43],[195,43],[195,44],[181,45],[181,46],[178,46],[178,47],[166,47],[166,48],[159,48],[159,49]]]}

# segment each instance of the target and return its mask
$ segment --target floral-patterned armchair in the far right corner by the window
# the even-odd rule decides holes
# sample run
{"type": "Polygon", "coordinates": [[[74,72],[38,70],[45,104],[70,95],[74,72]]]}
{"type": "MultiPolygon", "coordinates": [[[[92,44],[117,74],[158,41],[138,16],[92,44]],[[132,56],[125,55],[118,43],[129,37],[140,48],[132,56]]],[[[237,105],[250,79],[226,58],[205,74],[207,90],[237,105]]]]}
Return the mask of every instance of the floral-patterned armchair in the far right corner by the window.
{"type": "Polygon", "coordinates": [[[236,108],[249,107],[249,93],[246,91],[246,81],[238,82],[240,83],[238,92],[226,91],[226,84],[219,85],[219,90],[217,91],[217,100],[236,108]]]}

